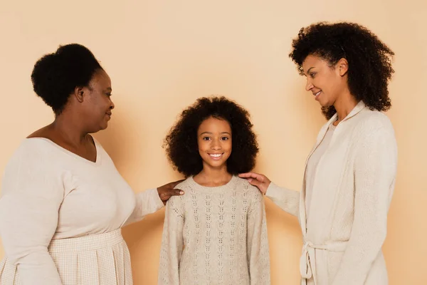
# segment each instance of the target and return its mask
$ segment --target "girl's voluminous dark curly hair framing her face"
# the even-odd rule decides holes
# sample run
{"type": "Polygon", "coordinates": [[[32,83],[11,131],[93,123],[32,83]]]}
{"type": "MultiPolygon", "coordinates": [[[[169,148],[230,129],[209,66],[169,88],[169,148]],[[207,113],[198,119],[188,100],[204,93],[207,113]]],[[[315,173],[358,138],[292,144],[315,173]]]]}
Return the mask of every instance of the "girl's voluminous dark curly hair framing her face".
{"type": "Polygon", "coordinates": [[[258,142],[252,130],[250,115],[247,110],[225,97],[199,98],[181,113],[163,145],[174,170],[189,177],[203,169],[197,131],[208,118],[226,120],[230,124],[232,150],[227,160],[228,173],[237,175],[251,171],[258,154],[258,142]]]}

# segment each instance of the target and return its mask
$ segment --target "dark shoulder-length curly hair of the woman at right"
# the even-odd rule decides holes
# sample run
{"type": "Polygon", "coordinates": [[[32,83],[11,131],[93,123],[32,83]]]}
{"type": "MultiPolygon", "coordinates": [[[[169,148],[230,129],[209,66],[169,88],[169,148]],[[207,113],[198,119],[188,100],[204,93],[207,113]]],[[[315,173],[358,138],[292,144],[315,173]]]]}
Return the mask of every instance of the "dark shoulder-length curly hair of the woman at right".
{"type": "MultiPolygon", "coordinates": [[[[301,28],[292,40],[289,54],[301,75],[302,63],[309,55],[320,56],[334,66],[341,58],[349,63],[348,86],[357,100],[363,100],[371,110],[385,111],[391,107],[388,81],[394,73],[391,58],[394,52],[364,26],[341,22],[320,22],[301,28]]],[[[327,119],[334,106],[322,108],[327,119]]]]}

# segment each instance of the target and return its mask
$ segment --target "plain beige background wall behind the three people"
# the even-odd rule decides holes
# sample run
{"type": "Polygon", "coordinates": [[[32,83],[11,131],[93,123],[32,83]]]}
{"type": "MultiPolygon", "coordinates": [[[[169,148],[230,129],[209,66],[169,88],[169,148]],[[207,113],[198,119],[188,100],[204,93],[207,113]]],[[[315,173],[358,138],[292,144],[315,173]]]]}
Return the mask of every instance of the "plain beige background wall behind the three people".
{"type": "MultiPolygon", "coordinates": [[[[426,1],[107,2],[0,0],[1,172],[19,142],[53,118],[33,94],[33,63],[60,43],[78,42],[112,78],[116,110],[96,136],[136,192],[179,178],[162,139],[182,108],[213,93],[251,111],[260,142],[256,170],[299,190],[325,120],[288,58],[291,38],[315,21],[357,21],[396,52],[388,115],[399,172],[384,245],[390,284],[427,284],[426,1]]],[[[297,284],[297,220],[267,204],[273,284],[297,284]]],[[[163,217],[161,211],[124,230],[135,284],[156,284],[163,217]]]]}

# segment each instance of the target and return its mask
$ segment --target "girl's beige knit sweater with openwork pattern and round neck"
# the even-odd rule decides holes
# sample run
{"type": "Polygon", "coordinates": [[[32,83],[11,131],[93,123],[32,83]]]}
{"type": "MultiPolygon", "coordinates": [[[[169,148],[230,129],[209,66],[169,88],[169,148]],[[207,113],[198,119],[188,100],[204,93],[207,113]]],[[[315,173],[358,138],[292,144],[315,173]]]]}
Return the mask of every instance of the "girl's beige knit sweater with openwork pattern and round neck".
{"type": "Polygon", "coordinates": [[[158,284],[270,284],[263,195],[233,176],[221,187],[192,177],[167,202],[158,284]]]}

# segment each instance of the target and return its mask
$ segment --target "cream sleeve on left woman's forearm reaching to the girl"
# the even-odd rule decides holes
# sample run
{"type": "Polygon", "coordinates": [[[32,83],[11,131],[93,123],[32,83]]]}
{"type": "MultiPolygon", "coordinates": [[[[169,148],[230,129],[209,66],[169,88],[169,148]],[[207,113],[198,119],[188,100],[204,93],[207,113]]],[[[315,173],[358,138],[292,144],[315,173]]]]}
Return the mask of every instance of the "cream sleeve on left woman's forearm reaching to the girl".
{"type": "Polygon", "coordinates": [[[164,207],[162,199],[160,199],[159,193],[155,188],[135,194],[135,199],[135,209],[125,222],[125,225],[139,222],[147,214],[157,212],[164,207]]]}

